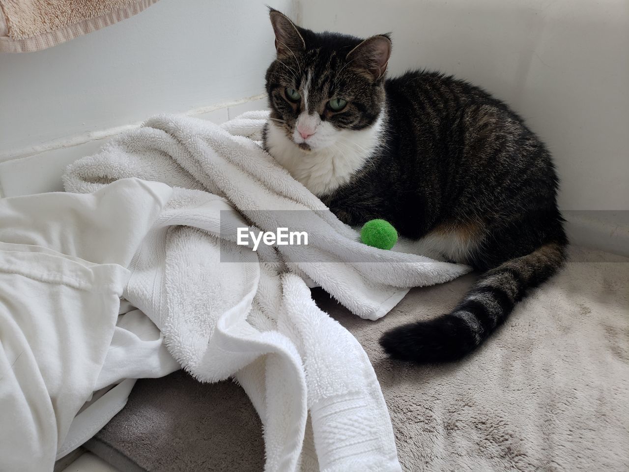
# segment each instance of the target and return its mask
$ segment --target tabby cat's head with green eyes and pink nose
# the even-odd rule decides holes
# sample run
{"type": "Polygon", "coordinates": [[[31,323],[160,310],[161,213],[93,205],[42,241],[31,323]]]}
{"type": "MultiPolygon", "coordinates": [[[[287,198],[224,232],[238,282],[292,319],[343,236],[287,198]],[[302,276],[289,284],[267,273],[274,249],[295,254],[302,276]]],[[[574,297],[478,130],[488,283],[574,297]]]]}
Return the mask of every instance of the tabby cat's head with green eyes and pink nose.
{"type": "Polygon", "coordinates": [[[385,99],[388,35],[361,40],[315,33],[274,9],[270,20],[277,50],[266,75],[272,126],[308,152],[376,123],[385,99]]]}

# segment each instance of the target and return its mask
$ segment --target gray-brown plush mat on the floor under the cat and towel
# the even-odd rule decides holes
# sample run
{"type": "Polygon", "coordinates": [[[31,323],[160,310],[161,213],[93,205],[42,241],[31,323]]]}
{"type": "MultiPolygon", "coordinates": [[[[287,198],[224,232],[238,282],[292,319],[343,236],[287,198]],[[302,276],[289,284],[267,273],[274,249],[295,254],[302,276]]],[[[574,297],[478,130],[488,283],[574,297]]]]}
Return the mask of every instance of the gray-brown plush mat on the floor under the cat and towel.
{"type": "MultiPolygon", "coordinates": [[[[629,259],[572,250],[479,351],[418,367],[377,346],[387,329],[446,312],[474,281],[413,289],[362,320],[313,295],[365,347],[391,413],[399,459],[416,471],[629,470],[629,259]]],[[[139,381],[88,444],[121,470],[260,471],[260,423],[233,383],[183,373],[139,381]],[[231,407],[226,407],[231,405],[231,407]]]]}

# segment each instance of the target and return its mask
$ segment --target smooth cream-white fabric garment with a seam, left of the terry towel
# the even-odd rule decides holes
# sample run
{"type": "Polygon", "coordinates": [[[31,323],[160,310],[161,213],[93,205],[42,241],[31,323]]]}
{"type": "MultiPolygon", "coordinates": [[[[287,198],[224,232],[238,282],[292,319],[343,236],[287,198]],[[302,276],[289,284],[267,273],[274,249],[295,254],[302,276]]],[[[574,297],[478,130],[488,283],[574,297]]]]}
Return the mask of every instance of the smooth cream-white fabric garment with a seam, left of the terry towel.
{"type": "Polygon", "coordinates": [[[0,470],[52,470],[95,390],[131,257],[171,189],[0,199],[0,470]]]}

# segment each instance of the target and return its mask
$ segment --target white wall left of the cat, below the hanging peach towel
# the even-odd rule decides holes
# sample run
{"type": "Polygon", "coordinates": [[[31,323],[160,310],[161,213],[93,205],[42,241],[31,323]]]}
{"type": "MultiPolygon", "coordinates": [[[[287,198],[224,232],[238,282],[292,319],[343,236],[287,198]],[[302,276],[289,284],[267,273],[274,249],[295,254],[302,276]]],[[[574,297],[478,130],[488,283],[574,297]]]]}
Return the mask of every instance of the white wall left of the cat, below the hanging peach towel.
{"type": "Polygon", "coordinates": [[[260,94],[273,38],[262,0],[161,0],[47,50],[0,53],[0,153],[260,94]]]}

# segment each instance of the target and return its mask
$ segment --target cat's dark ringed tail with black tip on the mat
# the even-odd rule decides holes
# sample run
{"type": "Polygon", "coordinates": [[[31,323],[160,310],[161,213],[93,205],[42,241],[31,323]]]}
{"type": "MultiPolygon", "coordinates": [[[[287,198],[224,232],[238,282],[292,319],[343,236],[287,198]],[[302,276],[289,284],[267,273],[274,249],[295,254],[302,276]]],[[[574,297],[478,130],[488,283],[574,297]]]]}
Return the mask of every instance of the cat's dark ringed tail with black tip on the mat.
{"type": "Polygon", "coordinates": [[[565,245],[546,244],[482,274],[451,313],[387,331],[380,344],[394,359],[455,361],[479,346],[504,322],[530,288],[559,269],[565,245]]]}

